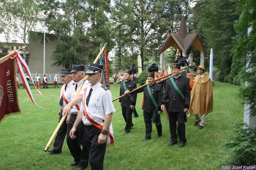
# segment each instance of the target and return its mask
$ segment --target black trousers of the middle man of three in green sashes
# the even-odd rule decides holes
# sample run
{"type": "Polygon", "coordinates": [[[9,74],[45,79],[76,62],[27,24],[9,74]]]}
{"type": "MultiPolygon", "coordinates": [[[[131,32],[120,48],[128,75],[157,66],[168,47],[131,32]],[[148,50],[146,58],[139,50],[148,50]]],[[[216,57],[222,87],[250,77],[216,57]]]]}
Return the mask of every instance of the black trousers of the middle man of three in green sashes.
{"type": "MultiPolygon", "coordinates": [[[[145,122],[145,131],[146,131],[146,138],[151,138],[152,133],[152,118],[154,112],[148,113],[143,111],[144,122],[145,122]]],[[[156,125],[157,135],[162,135],[162,124],[156,125]]]]}

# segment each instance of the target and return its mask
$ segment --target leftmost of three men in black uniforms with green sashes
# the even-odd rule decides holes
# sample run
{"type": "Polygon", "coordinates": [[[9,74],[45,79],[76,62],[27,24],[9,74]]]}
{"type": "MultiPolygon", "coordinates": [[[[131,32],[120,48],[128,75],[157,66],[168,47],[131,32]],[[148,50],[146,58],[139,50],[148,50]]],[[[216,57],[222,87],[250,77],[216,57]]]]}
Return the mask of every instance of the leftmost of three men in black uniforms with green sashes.
{"type": "MultiPolygon", "coordinates": [[[[136,83],[131,80],[132,72],[129,69],[125,70],[124,79],[125,81],[120,83],[120,96],[125,94],[126,90],[137,88],[136,83]]],[[[126,95],[119,99],[119,105],[122,106],[122,114],[126,122],[124,135],[129,133],[132,124],[132,111],[135,109],[137,94],[126,95]]]]}

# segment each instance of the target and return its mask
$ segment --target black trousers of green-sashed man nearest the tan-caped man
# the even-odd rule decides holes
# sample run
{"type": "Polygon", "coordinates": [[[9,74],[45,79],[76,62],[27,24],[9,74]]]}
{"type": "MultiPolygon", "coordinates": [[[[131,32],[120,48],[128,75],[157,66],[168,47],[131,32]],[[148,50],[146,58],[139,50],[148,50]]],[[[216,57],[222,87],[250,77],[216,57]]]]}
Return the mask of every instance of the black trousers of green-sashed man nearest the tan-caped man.
{"type": "Polygon", "coordinates": [[[187,141],[185,137],[185,116],[186,115],[184,114],[185,113],[183,112],[168,112],[171,142],[177,142],[178,136],[180,139],[180,143],[186,143],[187,141]],[[176,124],[177,122],[178,122],[178,125],[176,124]]]}

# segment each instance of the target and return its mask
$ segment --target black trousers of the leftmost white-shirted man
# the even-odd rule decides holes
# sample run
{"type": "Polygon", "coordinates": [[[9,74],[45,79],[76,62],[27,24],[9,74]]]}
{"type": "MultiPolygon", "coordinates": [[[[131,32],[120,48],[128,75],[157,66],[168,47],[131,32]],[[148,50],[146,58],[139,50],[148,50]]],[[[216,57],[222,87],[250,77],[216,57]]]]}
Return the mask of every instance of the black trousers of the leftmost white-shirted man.
{"type": "MultiPolygon", "coordinates": [[[[59,116],[59,122],[62,118],[62,111],[59,116]]],[[[61,124],[59,131],[57,132],[57,135],[55,137],[55,141],[53,144],[53,148],[57,152],[62,151],[63,142],[65,140],[67,134],[67,119],[64,120],[64,122],[61,124]]]]}

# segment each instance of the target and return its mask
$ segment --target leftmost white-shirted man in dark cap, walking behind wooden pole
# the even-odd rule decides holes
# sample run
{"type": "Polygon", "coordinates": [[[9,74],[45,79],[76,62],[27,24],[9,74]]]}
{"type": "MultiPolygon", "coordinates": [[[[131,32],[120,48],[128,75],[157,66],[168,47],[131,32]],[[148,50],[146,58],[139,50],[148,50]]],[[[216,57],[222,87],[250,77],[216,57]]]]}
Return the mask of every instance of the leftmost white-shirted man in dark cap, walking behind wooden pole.
{"type": "MultiPolygon", "coordinates": [[[[59,100],[59,122],[62,118],[62,110],[63,108],[71,101],[71,95],[73,92],[73,87],[75,85],[75,82],[72,80],[72,73],[70,72],[70,69],[62,69],[61,70],[61,81],[63,83],[63,86],[60,90],[60,100],[59,100]]],[[[60,129],[55,137],[55,141],[53,144],[54,149],[48,150],[50,153],[61,153],[62,151],[62,145],[63,141],[67,134],[67,122],[66,120],[62,123],[60,126],[60,129]]]]}

